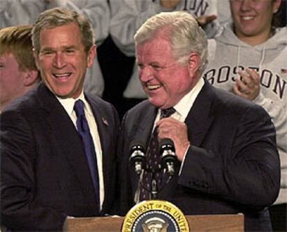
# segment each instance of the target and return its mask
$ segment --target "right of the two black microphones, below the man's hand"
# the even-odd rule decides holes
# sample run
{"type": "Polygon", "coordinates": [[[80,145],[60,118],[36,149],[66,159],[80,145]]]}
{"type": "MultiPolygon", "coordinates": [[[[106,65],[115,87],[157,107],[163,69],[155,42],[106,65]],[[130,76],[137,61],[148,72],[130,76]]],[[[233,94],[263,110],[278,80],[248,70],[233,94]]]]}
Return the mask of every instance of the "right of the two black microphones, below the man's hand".
{"type": "Polygon", "coordinates": [[[161,163],[166,168],[169,175],[175,174],[174,163],[177,161],[175,154],[175,144],[171,139],[165,138],[159,142],[159,154],[161,154],[161,163]]]}

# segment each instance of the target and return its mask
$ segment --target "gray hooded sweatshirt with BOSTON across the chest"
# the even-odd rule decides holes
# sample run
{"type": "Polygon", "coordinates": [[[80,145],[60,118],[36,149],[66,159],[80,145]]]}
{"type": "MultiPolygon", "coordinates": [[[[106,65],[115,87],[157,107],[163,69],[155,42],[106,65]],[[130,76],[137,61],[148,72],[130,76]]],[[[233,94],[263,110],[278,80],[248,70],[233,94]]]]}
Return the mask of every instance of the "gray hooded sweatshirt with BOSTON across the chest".
{"type": "Polygon", "coordinates": [[[268,111],[277,131],[281,191],[275,203],[287,202],[287,28],[277,28],[268,41],[257,46],[238,39],[232,23],[225,25],[220,37],[209,39],[204,76],[214,87],[231,91],[238,78],[236,69],[247,67],[259,72],[261,90],[254,102],[268,111]]]}

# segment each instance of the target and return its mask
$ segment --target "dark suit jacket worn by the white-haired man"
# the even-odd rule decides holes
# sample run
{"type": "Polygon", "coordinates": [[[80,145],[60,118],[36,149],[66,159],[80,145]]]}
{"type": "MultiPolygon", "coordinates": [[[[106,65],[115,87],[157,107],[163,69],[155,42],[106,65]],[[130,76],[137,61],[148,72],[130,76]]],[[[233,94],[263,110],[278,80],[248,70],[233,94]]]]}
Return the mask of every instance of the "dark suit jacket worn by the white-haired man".
{"type": "MultiPolygon", "coordinates": [[[[119,139],[121,214],[139,178],[128,161],[133,139],[148,146],[157,109],[148,100],[125,114],[119,139]]],[[[279,193],[275,128],[266,111],[205,83],[185,121],[191,143],[182,172],[159,193],[186,215],[245,214],[245,229],[270,230],[266,206],[279,193]]],[[[177,174],[181,163],[177,165],[177,174]]]]}

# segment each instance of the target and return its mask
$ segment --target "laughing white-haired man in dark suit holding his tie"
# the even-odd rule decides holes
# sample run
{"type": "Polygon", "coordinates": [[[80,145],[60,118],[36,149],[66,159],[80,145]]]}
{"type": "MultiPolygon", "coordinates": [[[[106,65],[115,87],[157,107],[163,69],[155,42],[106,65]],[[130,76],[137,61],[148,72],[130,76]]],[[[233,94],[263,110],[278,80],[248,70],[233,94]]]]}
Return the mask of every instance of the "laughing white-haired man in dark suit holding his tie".
{"type": "Polygon", "coordinates": [[[246,231],[270,231],[267,207],[279,192],[280,166],[266,111],[201,77],[207,39],[190,14],[155,15],[134,39],[148,100],[130,109],[121,126],[121,214],[151,198],[150,174],[138,176],[130,165],[130,143],[139,141],[157,180],[157,199],[173,202],[186,215],[243,213],[246,231]],[[171,108],[175,112],[161,119],[171,108]],[[167,170],[157,172],[162,165],[151,134],[174,142],[178,162],[171,178],[167,170]]]}

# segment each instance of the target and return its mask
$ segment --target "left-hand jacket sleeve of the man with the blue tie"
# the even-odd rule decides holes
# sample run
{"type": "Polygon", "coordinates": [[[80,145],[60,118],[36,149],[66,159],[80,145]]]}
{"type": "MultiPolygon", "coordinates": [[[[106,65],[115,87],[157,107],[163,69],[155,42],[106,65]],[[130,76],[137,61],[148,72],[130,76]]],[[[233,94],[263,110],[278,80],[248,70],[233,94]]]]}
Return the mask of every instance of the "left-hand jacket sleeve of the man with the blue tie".
{"type": "Polygon", "coordinates": [[[63,212],[42,206],[37,199],[36,139],[17,111],[1,116],[1,224],[15,231],[60,231],[63,212]]]}

